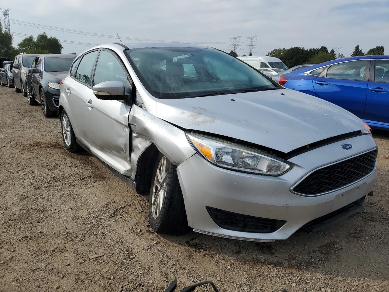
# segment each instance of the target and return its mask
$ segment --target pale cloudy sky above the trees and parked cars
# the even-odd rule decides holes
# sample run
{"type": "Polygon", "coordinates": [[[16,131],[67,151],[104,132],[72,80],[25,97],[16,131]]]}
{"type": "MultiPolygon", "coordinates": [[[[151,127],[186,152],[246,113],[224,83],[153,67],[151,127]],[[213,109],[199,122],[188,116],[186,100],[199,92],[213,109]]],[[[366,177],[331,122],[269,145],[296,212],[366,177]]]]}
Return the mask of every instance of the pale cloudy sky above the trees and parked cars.
{"type": "Polygon", "coordinates": [[[123,41],[201,43],[228,52],[230,37],[239,36],[240,56],[248,52],[247,36],[255,35],[256,56],[294,46],[338,47],[349,56],[357,44],[364,52],[384,46],[389,55],[387,0],[13,0],[0,2],[3,27],[7,8],[15,47],[26,35],[46,32],[61,40],[62,53],[117,42],[119,34],[123,41]]]}

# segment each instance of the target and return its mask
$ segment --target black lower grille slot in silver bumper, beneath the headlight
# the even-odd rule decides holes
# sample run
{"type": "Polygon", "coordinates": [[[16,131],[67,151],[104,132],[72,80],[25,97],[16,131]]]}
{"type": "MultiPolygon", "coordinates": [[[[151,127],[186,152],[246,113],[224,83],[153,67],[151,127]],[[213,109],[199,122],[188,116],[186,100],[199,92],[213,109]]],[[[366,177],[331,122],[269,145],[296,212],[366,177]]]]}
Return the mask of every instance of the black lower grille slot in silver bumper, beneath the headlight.
{"type": "Polygon", "coordinates": [[[277,231],[286,223],[284,220],[243,215],[208,206],[206,208],[217,226],[233,231],[270,233],[277,231]]]}

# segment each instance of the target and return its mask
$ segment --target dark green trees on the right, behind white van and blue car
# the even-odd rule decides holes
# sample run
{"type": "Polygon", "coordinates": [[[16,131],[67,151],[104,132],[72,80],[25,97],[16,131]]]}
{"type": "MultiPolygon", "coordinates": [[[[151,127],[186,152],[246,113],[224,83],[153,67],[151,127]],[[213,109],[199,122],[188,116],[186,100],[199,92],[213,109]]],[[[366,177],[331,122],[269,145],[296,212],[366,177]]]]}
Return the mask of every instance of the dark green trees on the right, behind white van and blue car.
{"type": "MultiPolygon", "coordinates": [[[[238,56],[237,53],[234,51],[231,51],[229,54],[235,57],[238,56]]],[[[373,47],[372,49],[369,49],[366,53],[363,53],[363,51],[359,48],[359,45],[356,45],[354,51],[351,54],[352,57],[364,55],[384,55],[384,47],[373,47]]],[[[342,53],[336,54],[335,49],[331,49],[328,51],[328,48],[325,46],[311,49],[305,49],[303,47],[291,47],[289,49],[279,48],[270,51],[266,54],[266,56],[279,58],[289,68],[301,64],[319,64],[335,60],[336,58],[345,58],[342,53]]]]}

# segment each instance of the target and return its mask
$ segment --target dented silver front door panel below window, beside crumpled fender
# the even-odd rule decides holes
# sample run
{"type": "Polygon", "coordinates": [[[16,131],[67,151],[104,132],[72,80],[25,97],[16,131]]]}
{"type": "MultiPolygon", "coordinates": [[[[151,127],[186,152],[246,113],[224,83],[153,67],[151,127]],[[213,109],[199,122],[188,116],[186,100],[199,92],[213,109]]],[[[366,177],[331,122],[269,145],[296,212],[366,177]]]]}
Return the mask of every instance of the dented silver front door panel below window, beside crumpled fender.
{"type": "Polygon", "coordinates": [[[116,171],[131,176],[128,127],[131,106],[118,100],[100,100],[94,95],[89,95],[85,102],[88,135],[84,139],[90,150],[116,171]]]}

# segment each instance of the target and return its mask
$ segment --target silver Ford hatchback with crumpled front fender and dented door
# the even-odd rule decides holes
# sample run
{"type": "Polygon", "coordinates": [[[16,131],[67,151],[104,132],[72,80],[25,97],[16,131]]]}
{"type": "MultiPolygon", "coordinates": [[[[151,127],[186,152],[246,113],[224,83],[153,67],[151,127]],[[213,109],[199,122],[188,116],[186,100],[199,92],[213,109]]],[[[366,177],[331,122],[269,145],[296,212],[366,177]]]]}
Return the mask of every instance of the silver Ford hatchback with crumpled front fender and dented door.
{"type": "Polygon", "coordinates": [[[282,240],[373,194],[377,145],[362,120],[217,49],[103,44],[61,82],[65,147],[148,193],[156,232],[282,240]]]}

